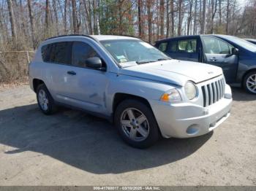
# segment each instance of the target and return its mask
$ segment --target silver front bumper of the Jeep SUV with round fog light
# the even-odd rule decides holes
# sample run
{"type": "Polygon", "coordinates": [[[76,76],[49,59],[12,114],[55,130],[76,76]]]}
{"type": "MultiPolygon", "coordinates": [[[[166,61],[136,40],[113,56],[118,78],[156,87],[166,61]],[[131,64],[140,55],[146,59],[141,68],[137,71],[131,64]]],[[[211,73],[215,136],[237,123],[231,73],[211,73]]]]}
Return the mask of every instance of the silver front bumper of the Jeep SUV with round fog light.
{"type": "Polygon", "coordinates": [[[208,107],[151,101],[151,108],[165,138],[189,138],[209,133],[230,116],[231,106],[232,98],[222,98],[208,107]]]}

